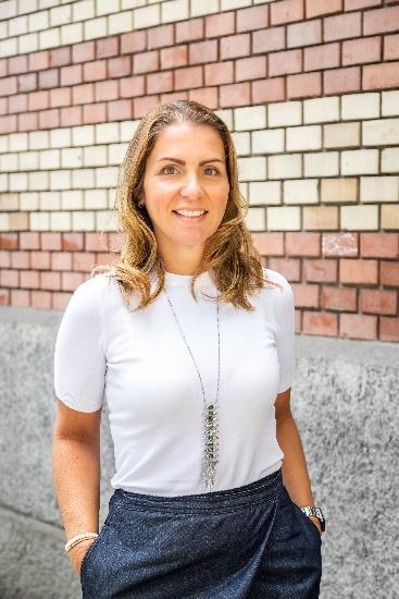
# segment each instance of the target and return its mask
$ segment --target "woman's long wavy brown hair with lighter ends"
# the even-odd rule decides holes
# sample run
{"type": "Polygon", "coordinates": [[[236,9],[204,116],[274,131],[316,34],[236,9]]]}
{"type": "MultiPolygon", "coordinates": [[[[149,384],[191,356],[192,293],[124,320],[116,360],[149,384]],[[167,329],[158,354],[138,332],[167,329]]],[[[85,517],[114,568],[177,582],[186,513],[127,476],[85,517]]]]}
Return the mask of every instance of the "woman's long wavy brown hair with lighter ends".
{"type": "MultiPolygon", "coordinates": [[[[157,252],[157,239],[146,206],[138,201],[144,185],[147,158],[151,154],[161,131],[174,123],[190,123],[213,127],[220,135],[226,158],[229,194],[219,229],[207,239],[195,280],[209,270],[219,290],[219,300],[235,307],[253,310],[247,295],[262,288],[282,285],[265,279],[261,256],[244,219],[248,203],[239,191],[237,156],[227,125],[209,108],[192,100],[174,100],[152,108],[139,122],[120,167],[114,211],[123,246],[111,265],[96,266],[90,277],[99,272],[111,274],[119,281],[122,297],[127,307],[133,292],[141,294],[136,309],[146,308],[164,289],[164,267],[157,252]],[[151,276],[158,277],[158,285],[151,294],[151,276]]],[[[115,252],[114,252],[115,253],[115,252]]]]}

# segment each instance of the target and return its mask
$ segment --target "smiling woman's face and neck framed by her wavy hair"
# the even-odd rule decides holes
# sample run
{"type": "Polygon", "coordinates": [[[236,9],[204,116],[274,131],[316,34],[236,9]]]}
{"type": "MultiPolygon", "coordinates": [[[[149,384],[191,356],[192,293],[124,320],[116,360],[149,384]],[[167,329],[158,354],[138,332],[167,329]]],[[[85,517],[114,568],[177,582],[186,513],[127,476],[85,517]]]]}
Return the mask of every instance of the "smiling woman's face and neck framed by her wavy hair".
{"type": "Polygon", "coordinates": [[[163,130],[147,159],[141,196],[161,258],[171,265],[178,253],[180,265],[198,262],[221,224],[228,192],[223,143],[211,126],[178,123],[163,130]],[[183,209],[205,213],[176,213],[183,209]]]}

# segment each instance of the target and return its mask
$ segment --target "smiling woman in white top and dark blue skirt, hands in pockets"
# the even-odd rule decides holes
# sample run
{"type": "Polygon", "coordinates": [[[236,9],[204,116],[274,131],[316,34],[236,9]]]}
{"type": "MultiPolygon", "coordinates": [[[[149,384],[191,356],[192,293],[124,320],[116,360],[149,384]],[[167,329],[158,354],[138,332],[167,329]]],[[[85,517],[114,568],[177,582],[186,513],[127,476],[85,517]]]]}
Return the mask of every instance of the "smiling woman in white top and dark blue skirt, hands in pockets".
{"type": "Polygon", "coordinates": [[[83,596],[319,597],[294,295],[251,242],[225,123],[194,101],[152,109],[116,208],[119,260],[76,289],[54,352],[53,475],[83,596]],[[97,536],[104,398],[116,472],[97,536]]]}

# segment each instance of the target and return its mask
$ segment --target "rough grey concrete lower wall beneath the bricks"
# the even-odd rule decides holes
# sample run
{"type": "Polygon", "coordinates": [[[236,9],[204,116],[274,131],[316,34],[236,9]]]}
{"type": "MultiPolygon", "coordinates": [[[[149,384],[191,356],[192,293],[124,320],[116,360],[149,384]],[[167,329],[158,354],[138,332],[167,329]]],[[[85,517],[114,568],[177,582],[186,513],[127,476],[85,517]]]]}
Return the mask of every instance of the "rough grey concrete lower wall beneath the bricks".
{"type": "MultiPolygon", "coordinates": [[[[51,468],[58,311],[0,308],[0,597],[80,597],[63,546],[51,468]]],[[[325,512],[322,599],[394,599],[399,346],[297,335],[291,406],[315,501],[325,512]]],[[[112,494],[112,440],[102,419],[100,525],[112,494]]]]}

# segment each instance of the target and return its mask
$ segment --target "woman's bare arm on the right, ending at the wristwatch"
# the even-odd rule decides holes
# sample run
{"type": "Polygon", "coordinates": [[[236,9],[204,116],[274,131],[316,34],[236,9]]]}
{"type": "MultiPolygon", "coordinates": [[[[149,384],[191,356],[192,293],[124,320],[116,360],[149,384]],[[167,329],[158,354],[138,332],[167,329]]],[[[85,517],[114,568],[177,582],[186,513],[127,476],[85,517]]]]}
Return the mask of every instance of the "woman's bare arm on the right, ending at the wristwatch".
{"type": "MultiPolygon", "coordinates": [[[[290,392],[291,390],[287,389],[278,393],[274,404],[277,441],[284,452],[283,484],[291,500],[299,508],[303,508],[314,505],[314,499],[301,438],[289,405],[290,392]]],[[[309,517],[322,533],[320,521],[315,516],[309,517]]]]}

